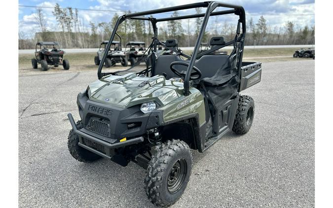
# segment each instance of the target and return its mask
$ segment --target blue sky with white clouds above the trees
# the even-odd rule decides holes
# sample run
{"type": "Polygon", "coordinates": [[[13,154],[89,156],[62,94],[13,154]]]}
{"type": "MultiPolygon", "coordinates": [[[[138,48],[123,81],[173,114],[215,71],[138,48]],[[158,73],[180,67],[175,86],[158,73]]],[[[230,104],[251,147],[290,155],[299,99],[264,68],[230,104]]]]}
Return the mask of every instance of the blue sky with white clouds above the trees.
{"type": "MultiPolygon", "coordinates": [[[[124,11],[145,11],[156,8],[164,8],[180,4],[198,2],[203,0],[19,0],[19,5],[29,6],[46,6],[54,7],[59,3],[61,7],[73,7],[81,9],[104,9],[115,10],[118,15],[124,11]]],[[[267,20],[267,24],[272,28],[285,26],[287,21],[292,21],[297,28],[308,25],[314,25],[314,0],[221,0],[225,3],[239,4],[245,8],[247,20],[253,18],[256,23],[260,15],[263,15],[267,20]]],[[[19,31],[25,36],[32,36],[38,32],[38,26],[33,17],[36,8],[19,6],[19,31]]],[[[53,9],[43,8],[47,16],[48,30],[58,30],[55,18],[52,15],[53,9]]],[[[204,10],[203,10],[204,11],[204,10]]],[[[89,22],[110,22],[115,12],[105,11],[84,11],[79,10],[79,17],[87,26],[89,22]]],[[[191,14],[193,11],[181,11],[181,14],[191,14]]],[[[170,16],[171,13],[166,13],[161,16],[170,16]]],[[[232,16],[219,17],[217,19],[219,25],[224,22],[233,21],[232,16]]],[[[214,19],[215,21],[215,19],[214,19]]],[[[183,23],[185,24],[185,23],[183,23]]],[[[193,28],[193,27],[191,27],[193,28]]]]}

